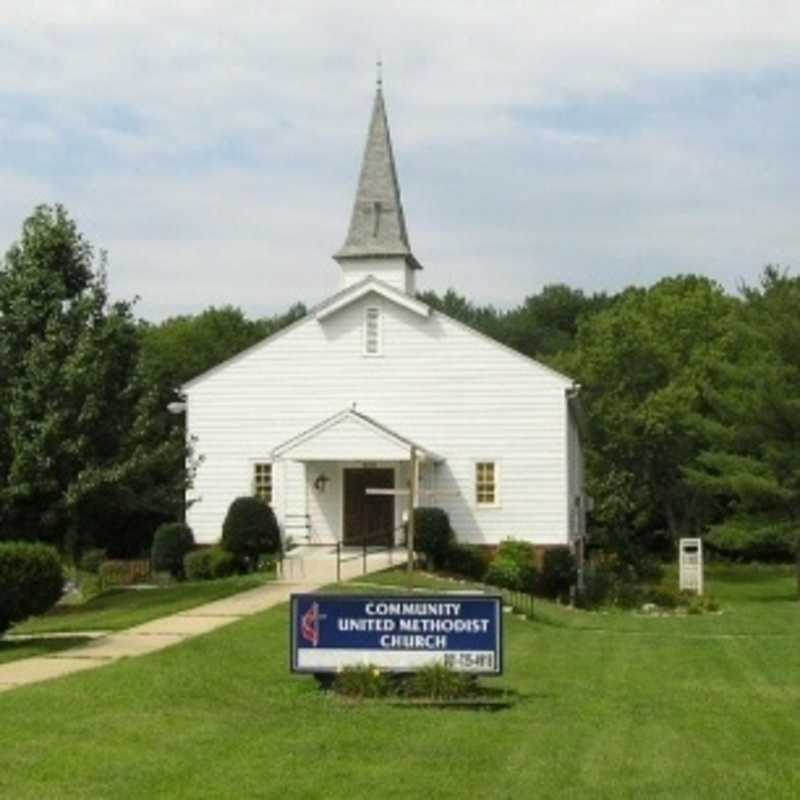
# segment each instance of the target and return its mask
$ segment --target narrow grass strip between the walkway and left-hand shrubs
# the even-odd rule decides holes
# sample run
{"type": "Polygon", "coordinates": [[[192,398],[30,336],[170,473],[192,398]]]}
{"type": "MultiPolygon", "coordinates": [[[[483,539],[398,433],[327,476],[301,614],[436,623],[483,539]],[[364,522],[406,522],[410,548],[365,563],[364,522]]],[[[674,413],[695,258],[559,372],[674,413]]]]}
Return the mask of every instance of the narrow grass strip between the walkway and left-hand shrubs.
{"type": "Polygon", "coordinates": [[[155,589],[109,589],[85,603],[56,606],[47,614],[18,625],[14,633],[122,630],[254,589],[269,579],[270,576],[256,573],[155,589]]]}

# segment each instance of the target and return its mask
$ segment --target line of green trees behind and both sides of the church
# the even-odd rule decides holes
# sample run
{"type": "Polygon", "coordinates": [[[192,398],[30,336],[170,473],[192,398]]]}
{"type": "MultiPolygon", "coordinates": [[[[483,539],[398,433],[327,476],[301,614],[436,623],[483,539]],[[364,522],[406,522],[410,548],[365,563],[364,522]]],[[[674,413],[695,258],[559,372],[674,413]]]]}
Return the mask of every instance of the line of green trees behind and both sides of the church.
{"type": "MultiPolygon", "coordinates": [[[[0,538],[144,549],[201,456],[167,411],[176,387],[306,312],[149,323],[110,300],[105,264],[64,208],[42,206],[0,267],[0,538]]],[[[508,310],[419,296],[581,384],[595,545],[628,560],[685,535],[798,552],[799,278],[770,266],[735,294],[697,275],[616,294],[551,285],[508,310]]]]}

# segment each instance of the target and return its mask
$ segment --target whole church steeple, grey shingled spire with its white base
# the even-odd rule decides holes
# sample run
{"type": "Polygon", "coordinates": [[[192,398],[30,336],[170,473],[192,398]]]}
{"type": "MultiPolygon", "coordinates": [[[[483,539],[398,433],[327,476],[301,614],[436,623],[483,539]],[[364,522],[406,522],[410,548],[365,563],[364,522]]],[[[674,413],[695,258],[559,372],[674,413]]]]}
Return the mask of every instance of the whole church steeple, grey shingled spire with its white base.
{"type": "Polygon", "coordinates": [[[345,287],[372,274],[413,294],[422,269],[408,243],[380,73],[350,228],[334,258],[345,287]]]}

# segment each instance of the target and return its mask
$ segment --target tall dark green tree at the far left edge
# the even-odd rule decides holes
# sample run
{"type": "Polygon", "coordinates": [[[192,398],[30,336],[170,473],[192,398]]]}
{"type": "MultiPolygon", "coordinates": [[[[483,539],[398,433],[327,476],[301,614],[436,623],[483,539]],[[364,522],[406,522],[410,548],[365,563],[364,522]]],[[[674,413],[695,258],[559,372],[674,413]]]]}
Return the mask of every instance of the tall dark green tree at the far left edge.
{"type": "Polygon", "coordinates": [[[0,269],[0,529],[62,544],[81,473],[113,462],[132,419],[136,326],[110,304],[95,259],[61,206],[37,208],[0,269]]]}

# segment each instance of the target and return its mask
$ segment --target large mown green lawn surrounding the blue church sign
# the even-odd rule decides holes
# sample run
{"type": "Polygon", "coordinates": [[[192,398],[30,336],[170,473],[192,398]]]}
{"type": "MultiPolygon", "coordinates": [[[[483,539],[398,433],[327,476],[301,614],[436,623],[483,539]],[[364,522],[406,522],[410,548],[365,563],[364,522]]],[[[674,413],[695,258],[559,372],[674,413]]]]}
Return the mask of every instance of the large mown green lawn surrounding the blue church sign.
{"type": "Polygon", "coordinates": [[[0,694],[0,796],[795,798],[791,571],[718,570],[715,616],[508,616],[507,711],[347,703],[287,669],[287,610],[0,694]]]}

